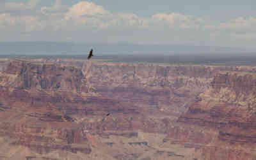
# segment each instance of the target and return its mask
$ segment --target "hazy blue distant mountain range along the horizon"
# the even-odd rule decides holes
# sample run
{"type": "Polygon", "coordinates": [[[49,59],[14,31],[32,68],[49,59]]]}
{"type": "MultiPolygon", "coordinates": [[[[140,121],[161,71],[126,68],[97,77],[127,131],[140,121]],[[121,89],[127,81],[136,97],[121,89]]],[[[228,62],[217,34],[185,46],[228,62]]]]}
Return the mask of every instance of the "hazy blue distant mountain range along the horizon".
{"type": "Polygon", "coordinates": [[[243,48],[187,45],[81,44],[72,42],[0,42],[0,55],[82,55],[93,48],[99,55],[207,54],[251,52],[243,48]]]}

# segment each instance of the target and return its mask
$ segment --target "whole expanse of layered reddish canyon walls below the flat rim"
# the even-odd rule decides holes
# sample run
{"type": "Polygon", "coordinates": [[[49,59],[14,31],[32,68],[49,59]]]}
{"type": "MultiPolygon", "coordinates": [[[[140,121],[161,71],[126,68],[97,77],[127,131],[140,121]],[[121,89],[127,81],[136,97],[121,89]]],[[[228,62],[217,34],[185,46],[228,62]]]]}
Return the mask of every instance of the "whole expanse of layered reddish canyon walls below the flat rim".
{"type": "Polygon", "coordinates": [[[253,67],[65,59],[0,66],[4,159],[256,157],[253,67]]]}

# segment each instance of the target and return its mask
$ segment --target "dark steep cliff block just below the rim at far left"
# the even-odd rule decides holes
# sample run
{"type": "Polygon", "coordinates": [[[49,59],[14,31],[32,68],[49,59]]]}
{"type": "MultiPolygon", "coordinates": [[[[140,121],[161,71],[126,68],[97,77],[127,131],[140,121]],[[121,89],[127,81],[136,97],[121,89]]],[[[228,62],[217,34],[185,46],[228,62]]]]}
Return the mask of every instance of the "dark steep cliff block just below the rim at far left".
{"type": "MultiPolygon", "coordinates": [[[[49,91],[58,91],[59,89],[81,91],[84,87],[81,82],[84,77],[83,72],[72,66],[12,61],[4,73],[17,76],[16,83],[13,82],[15,84],[13,87],[22,89],[39,87],[49,91]]],[[[8,86],[8,84],[6,85],[8,86]]]]}

